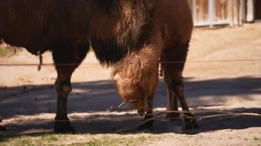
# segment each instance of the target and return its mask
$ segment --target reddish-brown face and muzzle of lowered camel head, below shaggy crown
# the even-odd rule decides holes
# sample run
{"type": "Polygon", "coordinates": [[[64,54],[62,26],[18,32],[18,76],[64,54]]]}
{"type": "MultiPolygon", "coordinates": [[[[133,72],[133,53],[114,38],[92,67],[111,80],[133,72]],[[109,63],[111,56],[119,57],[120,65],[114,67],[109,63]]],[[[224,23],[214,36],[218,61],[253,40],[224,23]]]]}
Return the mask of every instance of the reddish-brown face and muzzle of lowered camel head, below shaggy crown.
{"type": "Polygon", "coordinates": [[[148,108],[147,98],[139,82],[128,77],[122,77],[115,81],[117,91],[124,102],[131,102],[137,112],[142,116],[148,108]]]}

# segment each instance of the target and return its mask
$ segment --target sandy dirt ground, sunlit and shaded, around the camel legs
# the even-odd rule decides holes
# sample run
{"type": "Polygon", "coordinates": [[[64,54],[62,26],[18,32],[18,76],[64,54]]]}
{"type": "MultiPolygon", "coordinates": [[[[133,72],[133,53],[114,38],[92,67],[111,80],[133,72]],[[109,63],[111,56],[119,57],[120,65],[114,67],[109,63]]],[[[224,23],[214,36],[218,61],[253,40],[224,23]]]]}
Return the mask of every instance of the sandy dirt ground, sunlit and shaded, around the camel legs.
{"type": "MultiPolygon", "coordinates": [[[[214,110],[261,114],[260,59],[261,23],[194,29],[183,76],[185,96],[195,116],[220,114],[214,110]]],[[[0,58],[1,64],[38,62],[27,51],[0,58]]],[[[43,63],[52,64],[51,53],[44,54],[43,63]]],[[[135,111],[108,110],[121,104],[110,73],[111,69],[100,66],[91,52],[73,74],[68,110],[77,132],[135,134],[135,127],[141,122],[135,111]]],[[[0,136],[52,132],[55,80],[52,65],[42,66],[41,71],[37,71],[37,65],[0,66],[1,125],[9,128],[0,136]]],[[[166,104],[166,88],[161,80],[155,96],[155,113],[165,111],[166,104]]],[[[150,132],[166,138],[146,145],[261,145],[261,117],[209,117],[198,119],[198,125],[198,129],[185,130],[183,121],[167,121],[163,115],[157,116],[150,132]]]]}

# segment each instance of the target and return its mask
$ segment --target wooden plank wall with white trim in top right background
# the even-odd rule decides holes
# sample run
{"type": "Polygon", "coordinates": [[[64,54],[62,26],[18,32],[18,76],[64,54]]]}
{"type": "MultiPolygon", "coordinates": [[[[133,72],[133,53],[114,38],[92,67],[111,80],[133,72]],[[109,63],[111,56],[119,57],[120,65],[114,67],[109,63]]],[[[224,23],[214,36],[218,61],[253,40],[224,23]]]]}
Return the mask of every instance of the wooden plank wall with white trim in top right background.
{"type": "Polygon", "coordinates": [[[194,25],[238,26],[261,19],[260,0],[190,0],[194,25]]]}

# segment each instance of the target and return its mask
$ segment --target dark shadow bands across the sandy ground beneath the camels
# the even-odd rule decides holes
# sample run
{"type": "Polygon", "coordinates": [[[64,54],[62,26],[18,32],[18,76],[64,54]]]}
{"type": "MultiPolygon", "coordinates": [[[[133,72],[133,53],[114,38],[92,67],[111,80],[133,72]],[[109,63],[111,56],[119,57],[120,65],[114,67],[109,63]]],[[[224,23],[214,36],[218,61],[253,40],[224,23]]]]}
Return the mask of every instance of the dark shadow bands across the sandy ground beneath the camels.
{"type": "MultiPolygon", "coordinates": [[[[52,86],[51,86],[52,87],[52,86]]],[[[23,88],[22,86],[14,87],[23,88]]],[[[234,79],[217,79],[191,81],[185,80],[185,95],[190,107],[199,106],[220,106],[226,103],[227,96],[230,99],[253,100],[253,95],[261,98],[261,78],[260,77],[240,77],[234,79]],[[209,101],[209,99],[211,99],[209,101]]],[[[6,90],[1,89],[1,92],[6,90]]],[[[1,98],[0,98],[1,99],[1,98]]],[[[157,95],[155,97],[155,107],[166,106],[166,89],[161,80],[157,95]]],[[[113,81],[84,82],[73,84],[73,92],[69,97],[69,111],[71,113],[95,113],[106,112],[110,106],[120,104],[113,81]]],[[[244,103],[243,103],[244,104],[244,103]]],[[[242,105],[243,106],[243,105],[242,105]]],[[[47,86],[36,86],[36,90],[13,97],[5,97],[0,101],[0,115],[3,120],[16,117],[17,115],[35,115],[41,113],[55,113],[56,92],[54,88],[47,86]],[[38,90],[41,89],[41,90],[38,90]]],[[[231,112],[253,112],[261,114],[261,108],[232,108],[231,112]]],[[[196,117],[215,114],[205,112],[196,114],[196,117]]],[[[183,121],[166,121],[161,117],[156,117],[155,128],[152,133],[174,132],[179,134],[197,134],[200,132],[225,130],[225,129],[245,129],[249,127],[261,127],[260,117],[223,117],[202,119],[198,121],[199,128],[195,130],[185,130],[183,121]]],[[[136,127],[141,123],[141,118],[137,114],[95,114],[88,117],[73,118],[73,126],[80,133],[103,134],[118,133],[128,134],[137,132],[136,127]],[[130,129],[130,127],[133,127],[130,129]],[[126,129],[127,128],[127,129],[126,129]]],[[[34,122],[22,121],[21,123],[6,123],[10,127],[8,132],[0,133],[0,136],[14,136],[17,134],[45,134],[52,132],[52,120],[38,120],[34,122]],[[32,131],[32,132],[31,132],[32,131]]]]}

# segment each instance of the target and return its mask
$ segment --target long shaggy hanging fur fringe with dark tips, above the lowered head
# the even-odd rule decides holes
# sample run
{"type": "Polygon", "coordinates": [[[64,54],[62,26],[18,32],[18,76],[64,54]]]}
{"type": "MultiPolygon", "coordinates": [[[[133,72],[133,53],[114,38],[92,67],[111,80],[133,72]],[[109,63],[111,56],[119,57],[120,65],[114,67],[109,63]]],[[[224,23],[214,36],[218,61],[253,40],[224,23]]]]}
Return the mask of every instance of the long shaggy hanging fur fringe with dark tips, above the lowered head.
{"type": "MultiPolygon", "coordinates": [[[[108,2],[108,1],[107,1],[108,2]]],[[[102,64],[115,64],[126,53],[141,48],[148,38],[152,14],[155,10],[155,2],[152,0],[116,0],[109,1],[111,16],[115,16],[116,22],[113,36],[100,39],[93,37],[91,45],[102,64]]],[[[99,34],[99,33],[98,33],[99,34]]]]}

